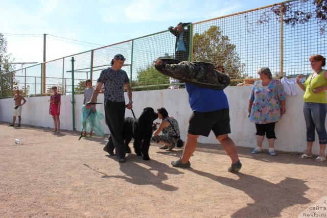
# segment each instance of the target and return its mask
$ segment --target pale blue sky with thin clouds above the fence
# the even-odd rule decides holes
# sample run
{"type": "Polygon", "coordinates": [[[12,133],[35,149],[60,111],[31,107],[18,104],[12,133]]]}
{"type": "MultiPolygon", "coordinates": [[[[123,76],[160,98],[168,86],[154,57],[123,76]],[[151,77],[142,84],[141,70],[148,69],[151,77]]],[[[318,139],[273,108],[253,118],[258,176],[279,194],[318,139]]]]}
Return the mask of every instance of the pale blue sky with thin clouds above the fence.
{"type": "Polygon", "coordinates": [[[198,22],[279,2],[3,0],[0,7],[0,32],[7,39],[8,53],[12,53],[15,62],[42,62],[44,33],[49,34],[46,37],[46,61],[50,61],[101,45],[167,30],[179,21],[198,22]]]}

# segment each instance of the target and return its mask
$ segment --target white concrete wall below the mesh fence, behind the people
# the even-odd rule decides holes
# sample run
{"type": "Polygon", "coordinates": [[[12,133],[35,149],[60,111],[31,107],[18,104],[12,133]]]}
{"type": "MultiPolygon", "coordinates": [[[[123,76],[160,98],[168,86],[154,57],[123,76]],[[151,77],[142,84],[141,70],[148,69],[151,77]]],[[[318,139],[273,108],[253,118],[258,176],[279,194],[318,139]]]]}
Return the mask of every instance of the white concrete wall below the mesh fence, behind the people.
{"type": "MultiPolygon", "coordinates": [[[[233,86],[227,87],[225,93],[229,101],[229,115],[231,134],[230,137],[238,146],[255,148],[255,126],[249,122],[248,118],[248,99],[251,86],[233,86]]],[[[287,96],[286,114],[276,124],[275,132],[277,140],[275,141],[275,149],[281,151],[297,151],[303,152],[306,149],[306,125],[303,117],[303,91],[297,87],[298,95],[287,96]]],[[[103,102],[103,94],[99,94],[98,102],[103,102]]],[[[127,95],[125,93],[125,98],[127,95]]],[[[50,96],[27,98],[27,103],[22,109],[22,124],[40,127],[53,128],[52,116],[49,115],[50,96]]],[[[61,96],[61,129],[72,130],[72,95],[61,96]]],[[[83,103],[83,95],[75,95],[75,127],[80,128],[81,105],[83,103]]],[[[133,92],[133,110],[135,116],[138,117],[143,108],[152,107],[156,110],[159,107],[165,107],[170,115],[177,118],[182,139],[185,139],[188,130],[189,117],[192,110],[189,106],[188,94],[185,89],[173,90],[153,90],[153,91],[137,91],[133,92]]],[[[11,122],[13,114],[13,99],[0,99],[0,120],[3,122],[11,122]]],[[[97,105],[98,110],[104,114],[103,104],[97,105]]],[[[126,116],[133,116],[130,110],[126,110],[126,116]]],[[[159,121],[159,120],[158,120],[159,121]]],[[[105,133],[109,133],[109,129],[102,120],[105,133]]],[[[318,136],[314,143],[313,152],[319,153],[318,136]]],[[[214,134],[209,137],[199,137],[201,143],[218,143],[214,134]]],[[[265,139],[264,148],[268,148],[268,142],[265,139]]]]}

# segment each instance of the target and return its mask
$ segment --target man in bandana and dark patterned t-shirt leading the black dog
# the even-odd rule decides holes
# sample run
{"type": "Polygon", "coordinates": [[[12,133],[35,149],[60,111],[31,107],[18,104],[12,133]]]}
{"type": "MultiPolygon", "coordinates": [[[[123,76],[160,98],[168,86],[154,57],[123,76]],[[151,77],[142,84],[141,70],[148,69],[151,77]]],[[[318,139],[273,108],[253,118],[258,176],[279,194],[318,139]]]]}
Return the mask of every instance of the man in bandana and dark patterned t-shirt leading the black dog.
{"type": "Polygon", "coordinates": [[[126,146],[122,138],[123,124],[125,119],[125,97],[124,97],[124,85],[127,89],[127,96],[129,102],[127,109],[132,109],[132,89],[129,84],[129,79],[123,67],[125,58],[123,55],[115,55],[111,60],[111,67],[101,71],[98,79],[97,88],[93,91],[91,100],[89,103],[97,101],[97,97],[101,90],[102,84],[104,84],[104,105],[105,105],[105,117],[106,123],[110,130],[110,135],[104,151],[110,155],[114,155],[113,150],[116,150],[118,162],[125,162],[126,146]]]}

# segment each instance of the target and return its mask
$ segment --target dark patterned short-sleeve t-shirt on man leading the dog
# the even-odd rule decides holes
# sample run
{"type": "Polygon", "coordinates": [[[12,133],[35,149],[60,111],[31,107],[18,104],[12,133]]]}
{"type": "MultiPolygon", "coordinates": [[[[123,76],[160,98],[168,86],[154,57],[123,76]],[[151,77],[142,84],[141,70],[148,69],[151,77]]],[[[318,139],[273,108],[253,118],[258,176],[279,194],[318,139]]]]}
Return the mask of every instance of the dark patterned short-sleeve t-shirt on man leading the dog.
{"type": "Polygon", "coordinates": [[[101,71],[98,82],[104,84],[104,99],[111,102],[125,102],[124,84],[129,83],[126,71],[110,67],[101,71]]]}

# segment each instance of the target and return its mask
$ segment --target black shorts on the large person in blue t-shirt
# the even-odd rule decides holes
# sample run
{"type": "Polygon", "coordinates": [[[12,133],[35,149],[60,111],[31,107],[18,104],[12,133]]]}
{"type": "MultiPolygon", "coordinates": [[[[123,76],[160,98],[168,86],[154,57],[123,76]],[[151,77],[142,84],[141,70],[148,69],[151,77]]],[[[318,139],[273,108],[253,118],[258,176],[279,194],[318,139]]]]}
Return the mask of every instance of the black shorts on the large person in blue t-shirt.
{"type": "Polygon", "coordinates": [[[189,120],[188,133],[208,137],[212,130],[216,137],[228,134],[230,133],[229,120],[228,108],[211,112],[193,111],[189,120]]]}

